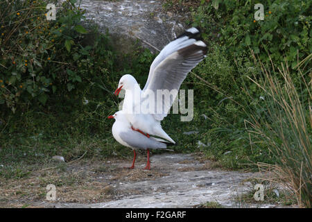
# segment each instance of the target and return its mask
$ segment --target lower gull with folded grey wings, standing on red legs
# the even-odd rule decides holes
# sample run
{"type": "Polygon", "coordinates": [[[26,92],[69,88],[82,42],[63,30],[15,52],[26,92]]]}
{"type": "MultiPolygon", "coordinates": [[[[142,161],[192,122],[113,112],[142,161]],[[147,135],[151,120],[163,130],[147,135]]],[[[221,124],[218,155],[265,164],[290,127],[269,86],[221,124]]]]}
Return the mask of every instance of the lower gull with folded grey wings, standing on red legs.
{"type": "Polygon", "coordinates": [[[132,130],[132,126],[130,122],[125,117],[123,111],[118,111],[112,116],[109,116],[108,119],[115,119],[115,122],[112,126],[112,135],[123,146],[127,146],[132,148],[134,157],[132,161],[132,166],[129,169],[135,168],[135,157],[137,157],[137,153],[135,153],[136,149],[144,149],[147,150],[148,160],[145,169],[150,169],[150,151],[149,149],[165,149],[166,142],[159,138],[154,137],[146,137],[142,133],[137,132],[136,130],[132,130]]]}

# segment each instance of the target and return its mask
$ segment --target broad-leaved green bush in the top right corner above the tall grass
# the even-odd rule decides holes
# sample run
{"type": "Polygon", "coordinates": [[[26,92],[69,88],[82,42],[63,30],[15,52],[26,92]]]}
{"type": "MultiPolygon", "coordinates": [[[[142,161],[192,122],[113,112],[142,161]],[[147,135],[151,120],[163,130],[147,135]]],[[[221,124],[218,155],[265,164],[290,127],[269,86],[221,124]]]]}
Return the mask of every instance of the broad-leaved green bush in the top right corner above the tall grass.
{"type": "Polygon", "coordinates": [[[263,21],[254,19],[259,1],[218,1],[218,10],[212,2],[193,12],[193,25],[203,28],[205,39],[225,45],[232,58],[248,61],[252,49],[262,62],[269,62],[270,54],[275,64],[286,59],[294,69],[312,52],[311,1],[261,1],[263,21]]]}

